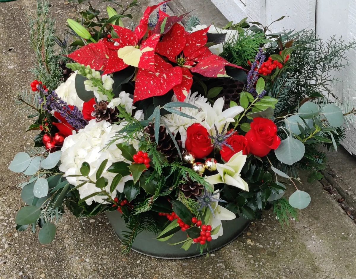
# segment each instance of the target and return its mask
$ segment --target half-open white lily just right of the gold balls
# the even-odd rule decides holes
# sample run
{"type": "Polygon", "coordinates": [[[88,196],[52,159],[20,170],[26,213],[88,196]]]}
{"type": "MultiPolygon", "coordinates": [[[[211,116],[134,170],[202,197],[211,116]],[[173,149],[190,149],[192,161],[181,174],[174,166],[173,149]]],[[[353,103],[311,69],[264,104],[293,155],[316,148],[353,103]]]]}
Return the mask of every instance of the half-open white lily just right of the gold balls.
{"type": "Polygon", "coordinates": [[[246,155],[242,151],[234,154],[230,160],[225,164],[216,164],[218,174],[205,176],[206,181],[210,184],[225,183],[227,185],[235,186],[248,192],[248,184],[241,178],[240,172],[246,162],[246,155]]]}

